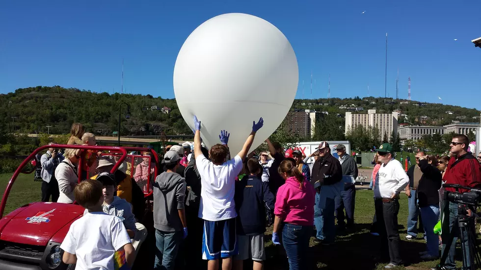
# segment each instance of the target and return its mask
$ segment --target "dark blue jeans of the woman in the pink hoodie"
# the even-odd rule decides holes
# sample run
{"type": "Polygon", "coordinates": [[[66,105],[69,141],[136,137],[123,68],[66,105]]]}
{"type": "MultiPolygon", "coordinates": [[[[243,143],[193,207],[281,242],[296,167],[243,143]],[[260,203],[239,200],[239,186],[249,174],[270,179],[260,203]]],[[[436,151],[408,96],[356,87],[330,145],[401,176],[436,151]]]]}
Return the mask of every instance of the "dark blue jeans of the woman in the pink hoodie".
{"type": "Polygon", "coordinates": [[[307,249],[311,238],[311,226],[285,223],[282,229],[282,245],[289,258],[289,270],[308,268],[307,249]]]}

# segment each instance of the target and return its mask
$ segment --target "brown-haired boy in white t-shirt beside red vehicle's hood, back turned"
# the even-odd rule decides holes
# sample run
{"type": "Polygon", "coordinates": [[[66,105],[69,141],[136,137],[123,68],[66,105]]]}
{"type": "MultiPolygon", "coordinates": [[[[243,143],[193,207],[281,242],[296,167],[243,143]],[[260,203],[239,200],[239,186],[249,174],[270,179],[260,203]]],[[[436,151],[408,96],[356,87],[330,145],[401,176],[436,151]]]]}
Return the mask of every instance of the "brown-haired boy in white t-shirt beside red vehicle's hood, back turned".
{"type": "Polygon", "coordinates": [[[121,269],[134,262],[134,246],[124,224],[102,210],[102,189],[100,181],[86,180],[74,190],[75,200],[88,213],[70,225],[60,248],[64,250],[62,261],[77,264],[79,270],[121,269]]]}

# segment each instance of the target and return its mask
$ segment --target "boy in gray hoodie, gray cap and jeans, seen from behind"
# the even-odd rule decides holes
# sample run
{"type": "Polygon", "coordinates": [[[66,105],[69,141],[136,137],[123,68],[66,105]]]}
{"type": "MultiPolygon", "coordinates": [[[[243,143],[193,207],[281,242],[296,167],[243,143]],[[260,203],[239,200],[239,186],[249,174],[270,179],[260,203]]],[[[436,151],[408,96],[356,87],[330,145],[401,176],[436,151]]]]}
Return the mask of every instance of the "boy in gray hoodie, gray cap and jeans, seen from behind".
{"type": "Polygon", "coordinates": [[[176,151],[167,151],[163,162],[166,172],[154,182],[154,227],[156,256],[154,270],[173,270],[182,239],[187,237],[184,209],[186,180],[176,170],[181,158],[176,151]]]}

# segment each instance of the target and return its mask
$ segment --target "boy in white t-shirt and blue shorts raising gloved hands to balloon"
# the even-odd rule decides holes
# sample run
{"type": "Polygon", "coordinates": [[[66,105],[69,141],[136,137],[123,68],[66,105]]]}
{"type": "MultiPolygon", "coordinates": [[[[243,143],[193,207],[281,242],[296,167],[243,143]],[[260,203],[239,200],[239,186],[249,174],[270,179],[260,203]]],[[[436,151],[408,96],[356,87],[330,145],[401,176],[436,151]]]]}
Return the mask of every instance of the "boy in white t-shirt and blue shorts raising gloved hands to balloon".
{"type": "Polygon", "coordinates": [[[232,256],[238,253],[235,178],[242,170],[242,157],[249,152],[257,130],[263,125],[262,118],[253,123],[252,132],[232,160],[226,161],[227,147],[217,144],[211,147],[209,161],[202,154],[200,121],[194,116],[194,155],[202,183],[199,208],[199,218],[204,220],[202,258],[209,260],[208,270],[219,269],[219,258],[222,258],[222,270],[232,269],[232,256]]]}

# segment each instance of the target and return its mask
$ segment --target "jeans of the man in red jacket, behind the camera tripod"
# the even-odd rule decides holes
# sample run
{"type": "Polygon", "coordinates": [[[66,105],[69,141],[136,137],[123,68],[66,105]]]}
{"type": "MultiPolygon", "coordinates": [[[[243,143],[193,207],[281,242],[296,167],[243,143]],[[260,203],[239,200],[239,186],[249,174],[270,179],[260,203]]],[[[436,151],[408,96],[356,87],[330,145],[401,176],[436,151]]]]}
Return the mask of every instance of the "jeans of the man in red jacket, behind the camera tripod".
{"type": "MultiPolygon", "coordinates": [[[[443,203],[448,203],[447,201],[443,201],[443,203]]],[[[446,269],[455,269],[456,268],[456,263],[454,262],[454,255],[456,253],[456,241],[457,237],[459,236],[459,227],[456,221],[457,217],[457,203],[454,202],[449,202],[449,231],[445,231],[445,228],[443,226],[443,234],[441,234],[441,239],[443,241],[443,250],[441,251],[441,254],[444,253],[444,249],[446,248],[446,244],[451,236],[451,231],[454,234],[453,242],[451,243],[451,246],[449,248],[449,253],[448,257],[446,258],[444,267],[446,269]],[[454,230],[453,230],[454,227],[454,230]]],[[[468,235],[467,232],[464,232],[464,244],[466,245],[466,253],[468,254],[466,261],[467,261],[467,268],[471,267],[471,262],[473,261],[473,257],[471,253],[469,252],[469,245],[468,245],[468,235]]],[[[466,256],[466,254],[463,254],[463,256],[466,256]]]]}

